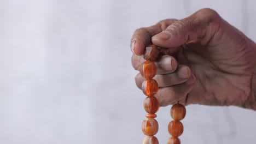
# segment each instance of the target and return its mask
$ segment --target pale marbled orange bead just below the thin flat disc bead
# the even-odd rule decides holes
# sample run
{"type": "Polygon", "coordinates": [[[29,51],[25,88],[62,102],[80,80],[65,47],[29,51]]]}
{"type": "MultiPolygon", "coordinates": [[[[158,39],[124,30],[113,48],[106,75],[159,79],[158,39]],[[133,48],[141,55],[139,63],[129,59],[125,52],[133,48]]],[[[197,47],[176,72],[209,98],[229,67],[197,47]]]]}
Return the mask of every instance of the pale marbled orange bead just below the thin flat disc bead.
{"type": "Polygon", "coordinates": [[[158,133],[158,121],[154,118],[147,118],[142,123],[142,131],[147,136],[153,136],[158,133]]]}

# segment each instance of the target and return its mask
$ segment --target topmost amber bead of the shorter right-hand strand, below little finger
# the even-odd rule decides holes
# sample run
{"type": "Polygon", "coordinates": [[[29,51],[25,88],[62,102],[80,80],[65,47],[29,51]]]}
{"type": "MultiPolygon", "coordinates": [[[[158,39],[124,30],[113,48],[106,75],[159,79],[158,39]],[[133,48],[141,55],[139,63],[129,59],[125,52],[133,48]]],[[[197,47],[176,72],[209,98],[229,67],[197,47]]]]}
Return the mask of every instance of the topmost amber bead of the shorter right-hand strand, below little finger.
{"type": "Polygon", "coordinates": [[[171,108],[171,116],[174,121],[181,121],[186,115],[186,108],[182,104],[174,104],[171,108]]]}

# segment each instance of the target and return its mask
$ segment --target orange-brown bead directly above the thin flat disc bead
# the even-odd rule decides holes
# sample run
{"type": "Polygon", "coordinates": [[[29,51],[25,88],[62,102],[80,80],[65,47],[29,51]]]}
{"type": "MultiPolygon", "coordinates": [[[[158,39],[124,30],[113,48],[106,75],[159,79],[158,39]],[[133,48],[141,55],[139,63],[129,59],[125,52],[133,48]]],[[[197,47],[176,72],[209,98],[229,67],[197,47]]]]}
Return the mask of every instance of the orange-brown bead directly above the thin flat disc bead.
{"type": "Polygon", "coordinates": [[[154,114],[159,110],[159,102],[156,97],[147,97],[144,100],[144,109],[146,112],[154,114]]]}

